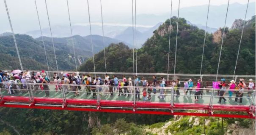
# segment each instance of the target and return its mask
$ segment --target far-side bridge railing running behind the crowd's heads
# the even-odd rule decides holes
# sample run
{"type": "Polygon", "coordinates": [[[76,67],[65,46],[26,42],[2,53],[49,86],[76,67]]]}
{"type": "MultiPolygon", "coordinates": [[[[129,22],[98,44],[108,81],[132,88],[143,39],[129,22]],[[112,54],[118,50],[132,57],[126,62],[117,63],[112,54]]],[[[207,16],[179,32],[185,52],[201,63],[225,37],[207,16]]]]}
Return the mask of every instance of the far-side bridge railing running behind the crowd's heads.
{"type": "MultiPolygon", "coordinates": [[[[11,70],[2,70],[2,71],[8,71],[11,72],[11,70]]],[[[31,70],[30,73],[32,72],[40,72],[41,71],[37,71],[37,70],[31,70]]],[[[24,71],[26,72],[26,71],[24,71]]],[[[50,79],[52,79],[53,74],[57,73],[59,74],[59,76],[62,76],[61,73],[68,73],[70,75],[72,75],[73,73],[76,73],[76,71],[44,71],[48,77],[51,77],[50,79]]],[[[105,78],[105,72],[85,72],[85,71],[79,71],[80,77],[82,77],[83,74],[90,74],[92,77],[94,76],[94,74],[99,75],[99,77],[102,77],[102,79],[104,80],[105,78]]],[[[134,79],[133,77],[135,75],[137,75],[140,79],[142,79],[143,77],[146,78],[146,80],[151,81],[152,80],[152,76],[155,75],[157,77],[157,80],[160,79],[160,77],[164,77],[166,80],[171,81],[175,78],[179,79],[181,82],[183,82],[185,79],[192,79],[193,82],[196,82],[197,79],[202,79],[204,82],[214,82],[216,80],[216,74],[166,74],[166,73],[126,73],[126,72],[107,72],[107,74],[109,75],[110,78],[113,78],[113,75],[116,75],[118,78],[122,78],[122,75],[125,75],[126,78],[128,79],[129,77],[131,77],[132,79],[134,79]],[[175,77],[174,77],[175,76],[175,77]]],[[[240,78],[243,78],[245,80],[245,82],[249,82],[249,79],[253,79],[254,82],[256,80],[256,76],[255,75],[230,75],[230,74],[218,74],[217,75],[217,80],[220,80],[222,78],[226,79],[226,82],[231,81],[232,79],[235,80],[235,82],[239,82],[240,78]]]]}

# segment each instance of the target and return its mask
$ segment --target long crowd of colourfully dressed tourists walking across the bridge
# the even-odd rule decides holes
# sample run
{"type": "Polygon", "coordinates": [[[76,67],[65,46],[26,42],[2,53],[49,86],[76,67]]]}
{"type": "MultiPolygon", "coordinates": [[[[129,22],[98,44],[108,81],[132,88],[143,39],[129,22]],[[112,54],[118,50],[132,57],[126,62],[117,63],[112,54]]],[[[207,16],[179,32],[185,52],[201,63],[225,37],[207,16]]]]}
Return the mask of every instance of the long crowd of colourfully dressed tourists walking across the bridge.
{"type": "MultiPolygon", "coordinates": [[[[192,79],[185,79],[183,82],[176,79],[168,83],[164,77],[160,77],[157,80],[157,77],[154,75],[152,76],[152,82],[149,82],[146,78],[143,77],[140,80],[137,76],[134,77],[133,81],[131,77],[127,79],[125,75],[122,75],[122,78],[118,79],[116,75],[109,77],[108,74],[105,74],[105,78],[102,79],[98,75],[91,77],[89,74],[79,74],[79,72],[72,74],[61,72],[61,74],[54,73],[51,81],[44,71],[35,73],[34,71],[23,72],[14,70],[8,72],[0,70],[0,87],[8,90],[8,94],[11,95],[22,94],[31,90],[35,94],[38,94],[41,90],[44,90],[45,95],[49,97],[49,83],[55,87],[55,91],[57,92],[63,91],[64,93],[68,93],[72,91],[74,96],[79,96],[80,91],[84,91],[87,96],[92,95],[93,98],[96,98],[96,93],[99,91],[103,95],[110,95],[110,97],[114,96],[115,93],[118,96],[124,97],[129,97],[135,93],[135,98],[138,100],[143,99],[143,101],[151,100],[153,93],[154,95],[158,95],[160,100],[165,100],[168,92],[173,92],[172,95],[178,98],[180,96],[180,90],[183,89],[184,96],[187,96],[189,92],[189,96],[193,94],[195,97],[194,101],[197,102],[200,100],[199,97],[202,97],[204,89],[206,93],[209,93],[209,89],[206,89],[206,82],[203,82],[201,79],[198,79],[195,84],[192,79]],[[181,83],[183,83],[183,87],[181,87],[181,83]],[[142,88],[138,86],[142,86],[142,88]],[[164,87],[168,87],[168,89],[164,87]],[[157,94],[157,90],[159,90],[159,94],[157,94]],[[142,97],[140,98],[141,95],[142,97]]],[[[249,79],[248,87],[244,79],[239,79],[239,83],[231,80],[229,84],[226,83],[226,79],[221,79],[219,82],[216,82],[215,88],[217,89],[217,96],[219,96],[218,103],[221,103],[222,100],[226,102],[227,99],[224,97],[226,92],[228,92],[229,98],[234,93],[236,95],[234,102],[237,102],[239,99],[239,103],[242,103],[244,91],[249,90],[248,98],[250,98],[252,94],[250,90],[255,89],[253,79],[249,79]]]]}

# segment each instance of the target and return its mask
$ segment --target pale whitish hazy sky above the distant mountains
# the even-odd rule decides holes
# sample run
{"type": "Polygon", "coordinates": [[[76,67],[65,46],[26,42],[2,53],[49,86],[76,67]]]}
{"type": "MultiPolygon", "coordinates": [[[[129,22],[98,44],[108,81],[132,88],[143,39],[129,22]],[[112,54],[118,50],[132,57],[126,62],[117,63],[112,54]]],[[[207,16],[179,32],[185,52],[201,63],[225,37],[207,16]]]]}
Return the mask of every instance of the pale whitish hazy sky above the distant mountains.
{"type": "MultiPolygon", "coordinates": [[[[10,12],[13,27],[16,32],[26,32],[38,29],[34,0],[6,0],[10,12]],[[24,25],[28,24],[28,25],[24,25]]],[[[178,9],[178,1],[173,0],[173,10],[178,9]]],[[[48,27],[47,14],[44,0],[36,0],[42,27],[48,27]]],[[[135,0],[134,0],[135,2],[135,0]]],[[[246,4],[248,0],[230,0],[231,3],[246,4]]],[[[255,0],[250,0],[255,2],[255,0]]],[[[171,0],[137,0],[138,14],[168,13],[171,10],[171,0]]],[[[211,0],[210,5],[227,4],[228,0],[211,0]]],[[[206,5],[208,0],[180,0],[180,8],[206,5]]],[[[52,25],[68,25],[68,11],[66,0],[47,0],[52,25]]],[[[69,0],[69,8],[72,24],[88,24],[87,0],[69,0]]],[[[91,21],[101,23],[100,0],[89,0],[91,21]]],[[[102,0],[103,19],[108,23],[116,22],[120,16],[130,19],[132,17],[132,0],[102,0]]],[[[175,15],[173,15],[175,16],[175,15]]],[[[0,0],[0,32],[8,31],[9,28],[6,9],[3,0],[0,0]]],[[[250,18],[250,16],[249,16],[250,18]]],[[[164,20],[163,20],[164,21],[164,20]]],[[[130,25],[132,21],[121,22],[120,25],[130,25]]],[[[141,23],[141,22],[140,22],[141,23]]],[[[106,24],[107,25],[107,24],[106,24]]],[[[140,25],[140,24],[139,24],[140,25]]]]}

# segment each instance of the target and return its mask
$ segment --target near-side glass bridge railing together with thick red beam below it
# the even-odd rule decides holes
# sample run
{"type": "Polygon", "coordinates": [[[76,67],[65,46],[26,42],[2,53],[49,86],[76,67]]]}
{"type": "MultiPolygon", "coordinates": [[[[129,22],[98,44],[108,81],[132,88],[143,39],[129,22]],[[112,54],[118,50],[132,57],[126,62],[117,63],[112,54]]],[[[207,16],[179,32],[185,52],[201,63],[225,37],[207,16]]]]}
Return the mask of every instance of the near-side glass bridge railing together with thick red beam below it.
{"type": "Polygon", "coordinates": [[[241,96],[239,90],[226,89],[226,94],[221,96],[219,91],[222,89],[209,88],[200,89],[202,95],[195,95],[195,92],[198,91],[195,88],[190,93],[190,90],[173,87],[25,83],[26,87],[21,88],[17,84],[15,84],[16,86],[11,83],[2,82],[0,84],[3,87],[0,90],[1,101],[6,103],[24,103],[26,101],[28,104],[35,102],[40,106],[86,105],[87,107],[101,106],[103,108],[133,108],[136,106],[139,109],[186,109],[183,108],[184,106],[188,106],[187,108],[194,106],[190,109],[197,109],[196,106],[198,108],[208,106],[214,109],[215,105],[225,105],[247,107],[250,111],[255,111],[255,90],[243,90],[241,96]],[[125,90],[126,93],[124,93],[125,90]],[[143,91],[146,91],[146,95],[143,91]],[[228,91],[233,91],[231,97],[228,95],[228,91]],[[248,95],[251,97],[247,97],[248,95]],[[227,101],[224,102],[224,99],[221,99],[221,102],[218,103],[221,97],[226,98],[227,101]],[[194,99],[198,99],[198,101],[194,101],[194,99]],[[84,101],[90,101],[90,103],[83,103],[84,101]]]}

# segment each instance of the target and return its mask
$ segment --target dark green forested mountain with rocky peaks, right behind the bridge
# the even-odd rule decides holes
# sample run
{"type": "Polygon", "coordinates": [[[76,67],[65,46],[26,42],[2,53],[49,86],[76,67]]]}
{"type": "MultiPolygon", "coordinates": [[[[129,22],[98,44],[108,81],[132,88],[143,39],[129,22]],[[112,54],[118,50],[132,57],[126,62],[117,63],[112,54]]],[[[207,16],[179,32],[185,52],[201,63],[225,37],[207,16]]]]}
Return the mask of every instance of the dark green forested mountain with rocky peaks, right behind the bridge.
{"type": "MultiPolygon", "coordinates": [[[[168,67],[169,30],[171,30],[170,66],[174,71],[176,22],[174,16],[166,20],[142,48],[137,51],[137,72],[166,73],[168,67]]],[[[219,29],[223,33],[223,29],[219,29]]],[[[219,74],[233,74],[242,29],[225,30],[219,74]]],[[[189,25],[184,18],[179,19],[177,39],[176,73],[200,74],[204,44],[204,30],[189,25]],[[190,65],[190,66],[187,66],[190,65]]],[[[215,34],[206,33],[202,74],[216,74],[221,41],[214,42],[215,34]]],[[[133,52],[124,43],[112,44],[105,49],[107,71],[133,72],[133,52]]],[[[96,71],[105,71],[104,52],[94,56],[96,71]]],[[[255,74],[255,16],[246,25],[241,42],[236,74],[255,74]]],[[[80,66],[80,71],[93,71],[92,58],[80,66]]]]}

